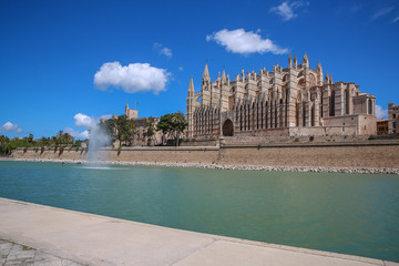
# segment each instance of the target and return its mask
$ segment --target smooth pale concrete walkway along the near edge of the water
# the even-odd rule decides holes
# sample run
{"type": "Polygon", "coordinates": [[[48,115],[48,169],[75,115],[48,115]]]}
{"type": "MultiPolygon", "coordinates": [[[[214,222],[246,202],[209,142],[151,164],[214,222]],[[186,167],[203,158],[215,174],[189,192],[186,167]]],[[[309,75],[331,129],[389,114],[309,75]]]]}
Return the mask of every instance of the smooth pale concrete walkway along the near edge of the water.
{"type": "MultiPolygon", "coordinates": [[[[6,246],[7,243],[18,243],[74,265],[399,265],[173,229],[7,198],[0,198],[0,239],[6,241],[0,242],[6,246]]],[[[9,265],[4,262],[0,257],[0,265],[9,265]]]]}

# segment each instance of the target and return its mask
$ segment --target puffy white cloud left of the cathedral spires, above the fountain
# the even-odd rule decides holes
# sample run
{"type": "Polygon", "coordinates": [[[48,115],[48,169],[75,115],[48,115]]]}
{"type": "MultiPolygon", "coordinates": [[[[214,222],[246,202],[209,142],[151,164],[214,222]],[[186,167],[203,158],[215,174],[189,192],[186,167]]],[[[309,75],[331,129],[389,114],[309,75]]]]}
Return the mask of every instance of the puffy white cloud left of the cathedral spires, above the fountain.
{"type": "Polygon", "coordinates": [[[165,69],[157,69],[149,63],[122,65],[120,62],[109,62],[95,73],[94,86],[101,91],[115,86],[127,93],[153,91],[157,94],[166,91],[170,75],[165,69]]]}

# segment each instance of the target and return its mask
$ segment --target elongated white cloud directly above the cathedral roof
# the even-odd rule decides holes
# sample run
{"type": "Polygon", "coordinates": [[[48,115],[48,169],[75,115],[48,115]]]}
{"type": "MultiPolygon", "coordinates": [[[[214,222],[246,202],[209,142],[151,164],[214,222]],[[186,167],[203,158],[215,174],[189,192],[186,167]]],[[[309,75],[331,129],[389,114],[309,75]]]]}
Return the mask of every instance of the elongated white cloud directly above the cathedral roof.
{"type": "Polygon", "coordinates": [[[234,53],[265,53],[275,54],[286,53],[288,50],[277,47],[270,39],[262,39],[257,32],[245,31],[244,29],[227,30],[223,29],[206,37],[206,41],[215,41],[226,48],[227,51],[234,53]]]}

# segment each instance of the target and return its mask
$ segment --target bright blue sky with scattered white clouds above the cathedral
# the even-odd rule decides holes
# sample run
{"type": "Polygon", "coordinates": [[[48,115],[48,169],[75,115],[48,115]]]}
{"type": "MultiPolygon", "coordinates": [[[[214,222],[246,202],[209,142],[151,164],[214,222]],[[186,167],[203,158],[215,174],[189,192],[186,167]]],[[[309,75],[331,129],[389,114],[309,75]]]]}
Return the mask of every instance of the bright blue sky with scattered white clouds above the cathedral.
{"type": "Polygon", "coordinates": [[[79,136],[88,120],[185,112],[200,90],[307,52],[334,81],[399,104],[398,1],[0,0],[0,134],[79,136]],[[94,76],[96,78],[94,79],[94,76]],[[79,114],[79,115],[78,115],[79,114]]]}

